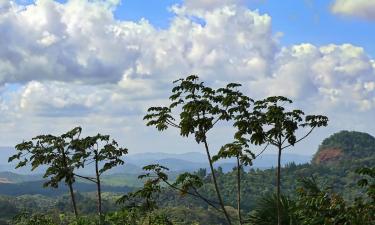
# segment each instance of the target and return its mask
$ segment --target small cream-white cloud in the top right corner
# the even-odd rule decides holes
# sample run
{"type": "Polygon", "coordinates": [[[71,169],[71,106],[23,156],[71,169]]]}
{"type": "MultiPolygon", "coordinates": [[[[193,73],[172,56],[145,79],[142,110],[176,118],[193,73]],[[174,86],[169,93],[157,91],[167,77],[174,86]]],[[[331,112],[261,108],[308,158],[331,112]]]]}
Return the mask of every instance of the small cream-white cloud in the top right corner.
{"type": "Polygon", "coordinates": [[[373,0],[336,0],[331,8],[333,13],[375,20],[375,1],[373,0]]]}

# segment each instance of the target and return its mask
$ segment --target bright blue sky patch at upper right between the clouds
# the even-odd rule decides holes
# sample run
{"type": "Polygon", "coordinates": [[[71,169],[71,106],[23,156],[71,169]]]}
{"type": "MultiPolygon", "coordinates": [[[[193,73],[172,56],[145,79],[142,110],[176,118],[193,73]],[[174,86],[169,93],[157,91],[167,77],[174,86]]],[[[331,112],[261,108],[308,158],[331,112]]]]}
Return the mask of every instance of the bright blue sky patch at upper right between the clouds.
{"type": "Polygon", "coordinates": [[[286,45],[302,42],[324,45],[352,43],[375,55],[374,22],[337,16],[331,13],[332,1],[270,0],[258,4],[261,12],[272,16],[274,29],[284,33],[286,45]]]}

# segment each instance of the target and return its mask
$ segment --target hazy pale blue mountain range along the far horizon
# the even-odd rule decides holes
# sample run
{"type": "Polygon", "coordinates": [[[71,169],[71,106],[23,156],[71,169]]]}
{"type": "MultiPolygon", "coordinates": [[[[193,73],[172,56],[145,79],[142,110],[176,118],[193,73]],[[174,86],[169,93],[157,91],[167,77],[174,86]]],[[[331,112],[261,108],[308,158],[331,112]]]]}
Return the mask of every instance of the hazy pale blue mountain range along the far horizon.
{"type": "MultiPolygon", "coordinates": [[[[30,174],[30,168],[14,169],[15,163],[8,163],[9,156],[14,154],[11,147],[0,147],[0,171],[10,171],[18,174],[30,174]]],[[[311,156],[298,154],[284,154],[282,164],[285,165],[290,162],[296,164],[308,163],[311,161],[311,156]]],[[[124,157],[125,165],[112,169],[107,174],[139,174],[142,173],[142,167],[149,164],[160,164],[168,167],[172,172],[195,171],[199,168],[208,168],[207,156],[200,152],[187,153],[162,153],[162,152],[147,152],[138,154],[129,154],[124,157]]],[[[222,167],[223,171],[230,171],[235,167],[234,160],[227,159],[219,161],[215,164],[216,167],[222,167]]],[[[253,168],[266,169],[276,166],[276,155],[263,154],[254,160],[253,168]]],[[[82,174],[90,174],[92,168],[86,167],[81,169],[82,174]]],[[[42,174],[44,168],[37,168],[32,174],[42,174]]],[[[1,178],[0,174],[0,178],[1,178]]],[[[38,177],[38,176],[36,176],[38,177]]],[[[36,177],[32,177],[34,180],[36,177]]],[[[39,176],[41,177],[41,176],[39,176]]]]}

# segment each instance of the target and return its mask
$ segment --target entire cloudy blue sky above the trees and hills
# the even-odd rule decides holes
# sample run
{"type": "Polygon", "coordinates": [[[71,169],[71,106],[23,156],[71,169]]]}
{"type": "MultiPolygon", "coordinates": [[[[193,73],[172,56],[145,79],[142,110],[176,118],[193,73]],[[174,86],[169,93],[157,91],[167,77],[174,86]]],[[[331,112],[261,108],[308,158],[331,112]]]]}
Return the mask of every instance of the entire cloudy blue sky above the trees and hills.
{"type": "Polygon", "coordinates": [[[0,0],[0,146],[82,126],[132,153],[201,151],[142,120],[197,74],[327,115],[290,150],[311,155],[340,130],[375,135],[374,38],[375,0],[0,0]]]}

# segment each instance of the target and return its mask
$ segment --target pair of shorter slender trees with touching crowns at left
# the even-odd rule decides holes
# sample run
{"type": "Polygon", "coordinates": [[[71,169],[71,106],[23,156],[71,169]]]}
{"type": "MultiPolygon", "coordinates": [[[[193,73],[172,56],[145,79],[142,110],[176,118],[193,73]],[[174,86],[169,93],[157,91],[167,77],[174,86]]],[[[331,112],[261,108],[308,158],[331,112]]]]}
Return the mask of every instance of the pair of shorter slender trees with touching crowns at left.
{"type": "Polygon", "coordinates": [[[102,214],[101,180],[100,176],[116,167],[123,165],[121,157],[128,153],[126,148],[120,148],[109,135],[97,134],[93,137],[80,138],[81,127],[76,127],[60,136],[39,135],[31,141],[24,141],[16,146],[17,154],[9,161],[18,160],[16,168],[32,165],[32,170],[39,166],[47,166],[44,178],[50,178],[44,186],[57,188],[64,180],[69,186],[74,213],[78,216],[73,183],[76,177],[92,181],[97,186],[98,214],[102,214]],[[95,163],[95,177],[81,176],[75,171],[87,164],[95,163]],[[100,167],[99,163],[104,163],[100,167]]]}

